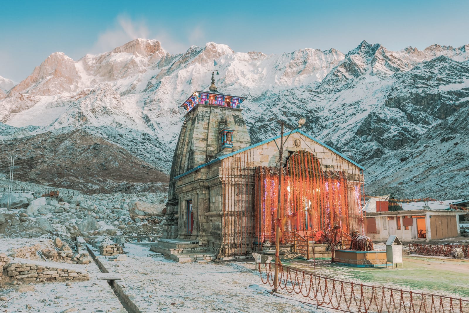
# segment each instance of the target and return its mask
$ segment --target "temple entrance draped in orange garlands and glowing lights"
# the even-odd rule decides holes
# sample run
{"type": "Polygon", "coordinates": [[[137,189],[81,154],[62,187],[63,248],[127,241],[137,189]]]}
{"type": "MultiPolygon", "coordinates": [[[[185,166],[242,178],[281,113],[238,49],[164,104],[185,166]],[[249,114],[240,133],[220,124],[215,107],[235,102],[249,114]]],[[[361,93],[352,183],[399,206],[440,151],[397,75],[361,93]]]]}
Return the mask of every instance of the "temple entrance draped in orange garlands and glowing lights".
{"type": "MultiPolygon", "coordinates": [[[[279,168],[256,171],[256,241],[275,241],[279,168]]],[[[343,233],[360,229],[360,187],[345,172],[323,170],[318,158],[297,151],[283,168],[281,203],[283,231],[296,231],[309,240],[324,241],[334,225],[343,233]]]]}

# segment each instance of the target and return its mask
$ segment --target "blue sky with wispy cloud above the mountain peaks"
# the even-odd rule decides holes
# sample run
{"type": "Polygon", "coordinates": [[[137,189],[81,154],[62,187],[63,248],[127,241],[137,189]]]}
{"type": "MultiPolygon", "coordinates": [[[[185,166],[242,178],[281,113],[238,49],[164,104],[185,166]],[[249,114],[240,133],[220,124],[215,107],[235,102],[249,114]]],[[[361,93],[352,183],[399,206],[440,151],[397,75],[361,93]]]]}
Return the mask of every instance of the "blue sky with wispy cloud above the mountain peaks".
{"type": "Polygon", "coordinates": [[[469,1],[1,1],[0,76],[21,81],[56,51],[74,60],[137,37],[170,53],[214,41],[235,52],[390,50],[469,43],[469,1]]]}

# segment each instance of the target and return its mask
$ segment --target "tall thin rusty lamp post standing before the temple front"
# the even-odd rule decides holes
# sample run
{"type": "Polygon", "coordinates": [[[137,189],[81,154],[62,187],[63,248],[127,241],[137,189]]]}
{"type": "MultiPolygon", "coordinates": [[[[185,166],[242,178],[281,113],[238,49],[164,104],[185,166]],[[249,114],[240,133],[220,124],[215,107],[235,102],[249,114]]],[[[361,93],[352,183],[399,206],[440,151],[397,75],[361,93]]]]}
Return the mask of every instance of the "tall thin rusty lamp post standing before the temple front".
{"type": "MultiPolygon", "coordinates": [[[[302,127],[304,125],[304,123],[306,122],[306,119],[304,117],[302,117],[299,121],[298,121],[298,128],[302,127]]],[[[285,139],[285,142],[283,141],[283,125],[284,125],[284,122],[280,122],[280,126],[281,126],[281,129],[280,129],[280,147],[279,145],[277,145],[277,141],[275,141],[275,139],[273,140],[275,142],[275,145],[277,146],[277,148],[279,149],[279,152],[280,152],[280,155],[279,155],[279,192],[278,192],[278,201],[277,201],[277,220],[276,220],[276,228],[275,228],[275,271],[274,271],[274,278],[273,278],[273,292],[277,292],[278,288],[279,288],[279,265],[280,265],[280,256],[279,256],[279,252],[280,252],[280,221],[282,219],[282,211],[281,211],[281,207],[280,207],[280,203],[281,203],[281,191],[282,191],[282,175],[283,175],[283,145],[285,142],[287,142],[288,138],[290,137],[290,135],[292,134],[293,132],[293,129],[290,131],[290,133],[288,134],[287,136],[287,139],[285,139]]]]}

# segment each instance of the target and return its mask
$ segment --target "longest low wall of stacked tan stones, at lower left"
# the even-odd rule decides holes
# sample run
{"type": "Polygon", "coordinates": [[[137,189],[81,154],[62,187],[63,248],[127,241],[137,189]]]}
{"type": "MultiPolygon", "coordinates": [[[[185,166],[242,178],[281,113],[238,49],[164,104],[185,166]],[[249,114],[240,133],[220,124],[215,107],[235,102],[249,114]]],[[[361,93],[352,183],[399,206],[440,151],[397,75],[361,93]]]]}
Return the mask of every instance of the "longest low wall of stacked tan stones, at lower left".
{"type": "Polygon", "coordinates": [[[47,267],[34,263],[11,263],[7,275],[24,282],[87,281],[90,275],[74,269],[47,267]]]}

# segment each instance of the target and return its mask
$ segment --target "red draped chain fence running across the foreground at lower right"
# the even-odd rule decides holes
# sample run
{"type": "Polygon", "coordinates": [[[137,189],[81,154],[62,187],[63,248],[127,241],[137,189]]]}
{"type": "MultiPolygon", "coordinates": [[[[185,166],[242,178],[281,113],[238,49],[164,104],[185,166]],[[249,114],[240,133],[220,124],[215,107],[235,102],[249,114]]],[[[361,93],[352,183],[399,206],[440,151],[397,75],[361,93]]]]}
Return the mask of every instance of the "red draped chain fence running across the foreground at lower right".
{"type": "MultiPolygon", "coordinates": [[[[273,267],[259,274],[273,286],[273,267]]],[[[310,304],[352,313],[468,313],[469,300],[407,290],[364,285],[279,267],[279,288],[310,300],[310,304]]]]}

